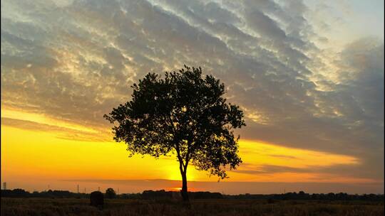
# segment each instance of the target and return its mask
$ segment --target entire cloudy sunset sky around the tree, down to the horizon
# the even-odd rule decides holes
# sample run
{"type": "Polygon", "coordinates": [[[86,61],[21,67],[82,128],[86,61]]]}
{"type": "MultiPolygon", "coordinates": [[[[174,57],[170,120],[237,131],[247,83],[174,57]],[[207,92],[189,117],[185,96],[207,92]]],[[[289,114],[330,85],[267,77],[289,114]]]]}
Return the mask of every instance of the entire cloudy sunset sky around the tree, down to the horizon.
{"type": "Polygon", "coordinates": [[[103,114],[148,72],[201,67],[245,112],[243,163],[189,190],[384,193],[384,1],[1,1],[1,182],[178,190],[103,114]]]}

